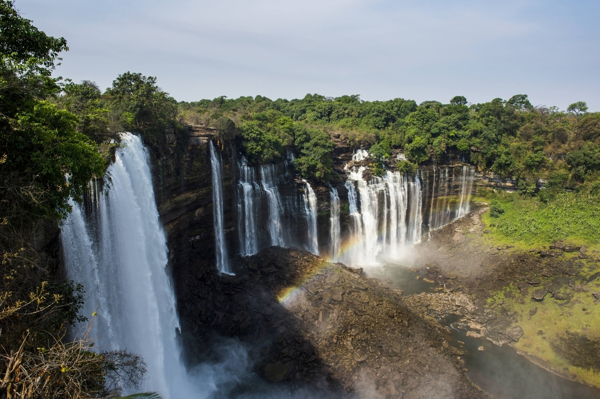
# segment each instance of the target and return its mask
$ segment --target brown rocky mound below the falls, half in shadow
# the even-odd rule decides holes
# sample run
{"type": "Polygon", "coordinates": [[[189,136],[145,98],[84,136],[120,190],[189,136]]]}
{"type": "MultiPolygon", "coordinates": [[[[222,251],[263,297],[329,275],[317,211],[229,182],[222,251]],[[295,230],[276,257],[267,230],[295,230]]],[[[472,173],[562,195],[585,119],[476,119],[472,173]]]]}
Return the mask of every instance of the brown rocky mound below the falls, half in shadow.
{"type": "MultiPolygon", "coordinates": [[[[266,380],[366,397],[486,397],[466,379],[435,325],[358,269],[301,250],[266,248],[239,259],[234,277],[187,275],[188,346],[207,350],[214,332],[261,355],[266,380]],[[346,393],[344,393],[346,392],[346,393]]],[[[203,268],[203,271],[200,269],[203,268]]]]}

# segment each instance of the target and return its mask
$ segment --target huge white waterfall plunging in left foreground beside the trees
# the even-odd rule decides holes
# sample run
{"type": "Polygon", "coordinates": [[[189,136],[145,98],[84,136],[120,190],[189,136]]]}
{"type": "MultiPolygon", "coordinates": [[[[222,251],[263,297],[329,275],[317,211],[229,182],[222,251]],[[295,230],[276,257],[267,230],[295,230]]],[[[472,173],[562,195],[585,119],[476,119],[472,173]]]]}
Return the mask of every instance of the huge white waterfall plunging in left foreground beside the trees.
{"type": "MultiPolygon", "coordinates": [[[[148,154],[139,137],[124,133],[125,148],[107,170],[107,190],[92,193],[89,217],[83,207],[61,226],[69,278],[82,283],[97,311],[96,347],[127,349],[143,357],[149,379],[143,389],[167,398],[194,395],[179,359],[175,296],[167,276],[166,237],[158,220],[148,154]]],[[[92,185],[92,189],[94,186],[92,185]]]]}

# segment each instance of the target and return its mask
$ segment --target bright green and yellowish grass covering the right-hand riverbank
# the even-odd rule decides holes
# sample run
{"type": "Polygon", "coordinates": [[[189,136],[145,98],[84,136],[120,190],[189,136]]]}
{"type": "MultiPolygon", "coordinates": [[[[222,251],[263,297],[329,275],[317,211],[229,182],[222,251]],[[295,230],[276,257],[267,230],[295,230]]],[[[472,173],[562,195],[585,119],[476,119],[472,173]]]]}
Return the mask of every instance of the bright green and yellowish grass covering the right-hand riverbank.
{"type": "MultiPolygon", "coordinates": [[[[565,268],[577,265],[578,275],[564,284],[560,292],[570,299],[555,299],[547,293],[542,301],[532,299],[533,292],[554,282],[560,273],[544,277],[545,263],[539,263],[539,271],[526,277],[514,276],[513,282],[502,289],[490,292],[488,307],[498,313],[514,312],[523,329],[523,337],[515,343],[517,349],[547,362],[561,373],[575,376],[581,382],[600,387],[600,304],[595,302],[593,292],[600,292],[600,280],[587,282],[600,271],[600,199],[598,195],[584,191],[559,193],[548,201],[526,197],[518,193],[482,190],[479,202],[496,208],[496,216],[486,212],[483,220],[488,234],[484,244],[514,245],[514,250],[544,249],[559,240],[574,245],[586,245],[589,259],[580,259],[580,253],[564,253],[559,257],[565,268]],[[539,279],[536,286],[523,291],[523,278],[539,279]]],[[[532,254],[532,257],[534,255],[532,254]]],[[[532,259],[533,261],[533,259],[532,259]]],[[[511,276],[506,276],[510,277],[511,276]]],[[[507,283],[508,284],[508,283],[507,283]]]]}

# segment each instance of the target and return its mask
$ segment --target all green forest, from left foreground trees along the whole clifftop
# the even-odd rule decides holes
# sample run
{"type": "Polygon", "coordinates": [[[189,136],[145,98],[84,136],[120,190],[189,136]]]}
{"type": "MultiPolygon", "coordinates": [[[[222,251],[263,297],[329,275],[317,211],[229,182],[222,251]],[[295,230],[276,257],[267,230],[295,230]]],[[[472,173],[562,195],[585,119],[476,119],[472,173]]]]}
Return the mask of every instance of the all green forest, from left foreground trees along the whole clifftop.
{"type": "Polygon", "coordinates": [[[85,334],[68,339],[69,326],[83,320],[83,287],[62,281],[34,239],[103,175],[120,131],[157,143],[166,128],[184,136],[185,124],[208,125],[253,164],[293,151],[296,171],[324,185],[337,173],[335,138],[368,148],[374,175],[454,154],[480,172],[518,179],[520,193],[545,202],[565,190],[600,192],[600,113],[584,101],[564,111],[533,106],[524,94],[481,104],[460,95],[417,104],[318,94],[178,102],[141,73],[125,72],[104,91],[55,77],[67,41],[39,31],[8,0],[0,1],[0,30],[0,398],[115,397],[143,379],[133,353],[95,352],[85,334]],[[392,160],[394,150],[407,160],[392,160]],[[538,179],[547,190],[536,193],[538,179]]]}

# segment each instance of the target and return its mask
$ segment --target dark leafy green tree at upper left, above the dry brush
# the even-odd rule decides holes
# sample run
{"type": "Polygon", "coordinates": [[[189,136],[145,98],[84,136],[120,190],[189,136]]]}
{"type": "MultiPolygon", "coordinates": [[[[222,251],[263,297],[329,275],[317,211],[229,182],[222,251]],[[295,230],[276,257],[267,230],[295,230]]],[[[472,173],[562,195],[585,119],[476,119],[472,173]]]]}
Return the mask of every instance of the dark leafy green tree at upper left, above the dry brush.
{"type": "Polygon", "coordinates": [[[11,1],[0,0],[0,11],[0,212],[25,226],[65,215],[104,161],[76,131],[76,116],[48,101],[60,90],[51,75],[67,42],[32,26],[11,1]]]}

